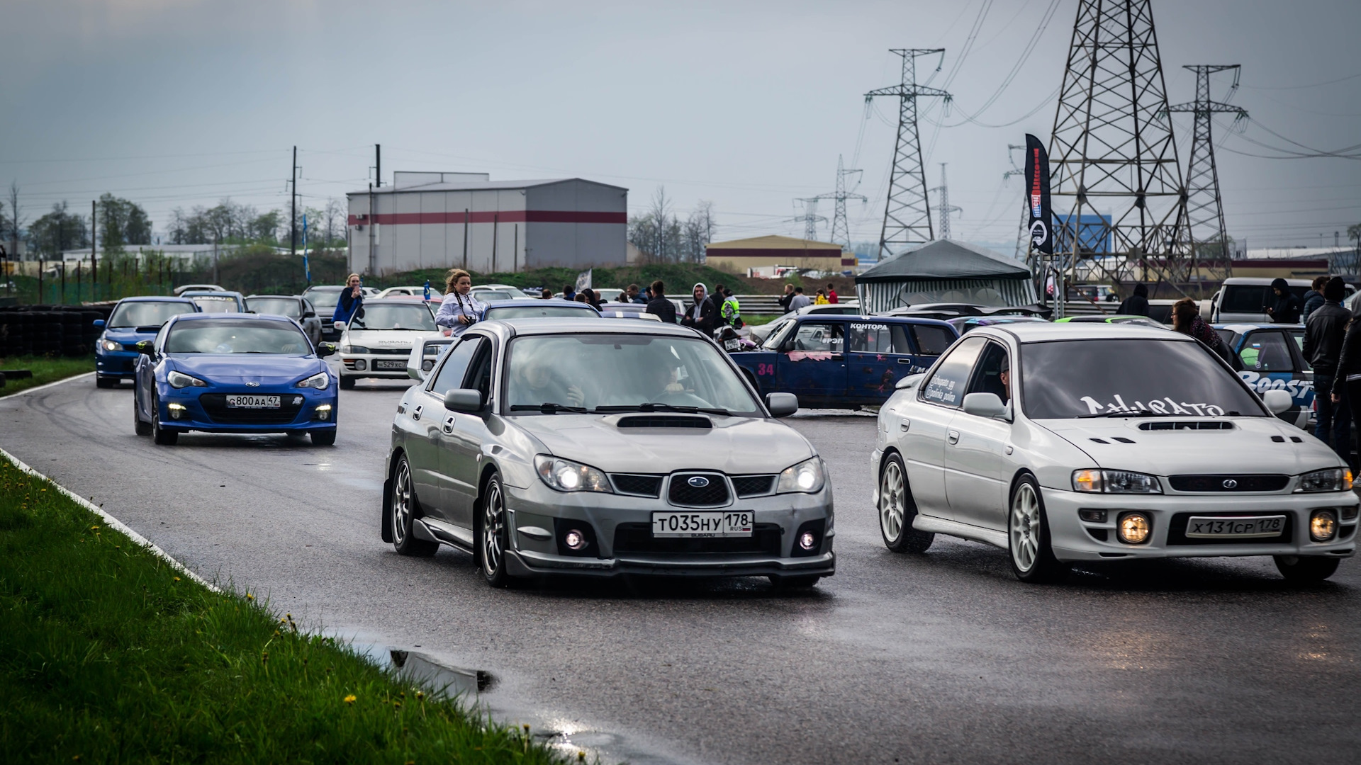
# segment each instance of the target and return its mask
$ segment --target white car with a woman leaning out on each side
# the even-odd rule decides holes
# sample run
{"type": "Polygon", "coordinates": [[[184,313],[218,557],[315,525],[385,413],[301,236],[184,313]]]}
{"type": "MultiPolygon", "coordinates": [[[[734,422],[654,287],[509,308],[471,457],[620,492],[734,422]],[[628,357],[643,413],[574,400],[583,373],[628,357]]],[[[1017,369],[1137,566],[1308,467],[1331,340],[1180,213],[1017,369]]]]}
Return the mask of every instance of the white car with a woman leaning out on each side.
{"type": "Polygon", "coordinates": [[[423,301],[372,299],[354,313],[340,335],[340,387],[354,388],[361,377],[407,378],[411,346],[441,338],[434,313],[423,301]]]}

